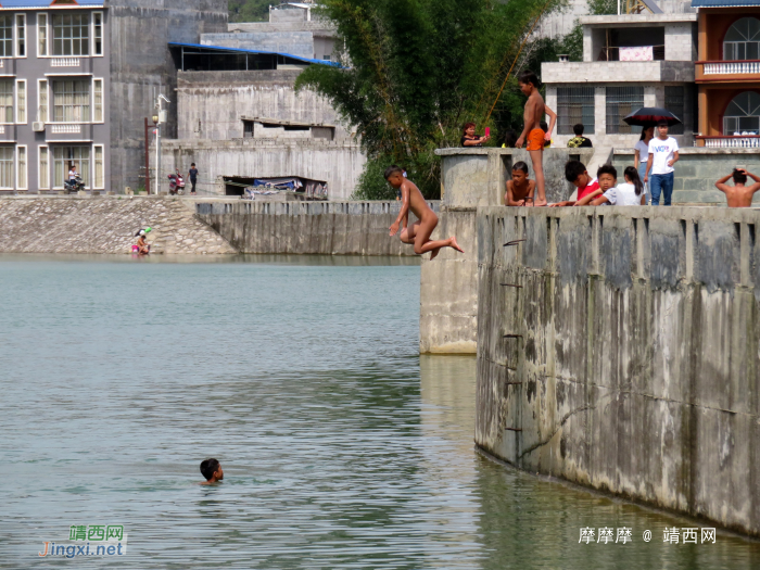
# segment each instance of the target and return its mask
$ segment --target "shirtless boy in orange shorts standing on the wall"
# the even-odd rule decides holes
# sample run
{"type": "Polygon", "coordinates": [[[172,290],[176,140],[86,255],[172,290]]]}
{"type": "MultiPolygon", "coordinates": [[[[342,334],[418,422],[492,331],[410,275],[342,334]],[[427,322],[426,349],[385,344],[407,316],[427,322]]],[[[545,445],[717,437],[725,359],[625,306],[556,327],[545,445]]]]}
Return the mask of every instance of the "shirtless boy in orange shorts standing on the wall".
{"type": "Polygon", "coordinates": [[[533,162],[533,172],[535,173],[535,183],[539,189],[539,198],[535,201],[536,206],[546,205],[546,185],[544,181],[544,141],[552,140],[552,131],[557,121],[557,114],[544,103],[544,98],[539,92],[541,81],[533,72],[524,71],[517,79],[520,86],[520,91],[528,96],[525,103],[525,127],[522,129],[522,135],[517,139],[515,147],[521,149],[522,144],[528,140],[525,150],[531,155],[533,162]],[[544,118],[544,113],[549,116],[548,132],[541,128],[541,122],[544,118]]]}

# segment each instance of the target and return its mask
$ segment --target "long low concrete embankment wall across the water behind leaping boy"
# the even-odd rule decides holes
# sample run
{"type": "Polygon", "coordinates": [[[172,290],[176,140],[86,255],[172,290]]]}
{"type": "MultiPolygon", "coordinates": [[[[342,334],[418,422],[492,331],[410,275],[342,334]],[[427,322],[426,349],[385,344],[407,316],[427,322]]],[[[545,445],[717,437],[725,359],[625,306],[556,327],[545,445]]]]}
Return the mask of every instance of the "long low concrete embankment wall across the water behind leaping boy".
{"type": "MultiPolygon", "coordinates": [[[[438,202],[430,202],[433,211],[438,202]]],[[[241,253],[415,255],[389,236],[400,202],[200,202],[198,217],[241,253]]],[[[409,223],[416,218],[409,215],[409,223]]]]}

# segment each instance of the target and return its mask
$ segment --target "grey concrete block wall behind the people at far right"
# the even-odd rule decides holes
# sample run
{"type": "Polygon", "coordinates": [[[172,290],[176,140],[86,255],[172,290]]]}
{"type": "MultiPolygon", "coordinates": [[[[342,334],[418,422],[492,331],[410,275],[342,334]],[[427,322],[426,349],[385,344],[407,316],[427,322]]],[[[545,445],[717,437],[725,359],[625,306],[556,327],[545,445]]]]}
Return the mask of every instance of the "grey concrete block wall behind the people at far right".
{"type": "MultiPolygon", "coordinates": [[[[724,205],[725,194],[715,188],[715,181],[733,172],[747,168],[760,175],[760,152],[758,149],[706,149],[683,148],[675,163],[673,180],[673,203],[724,205]]],[[[626,166],[633,166],[633,150],[616,149],[613,163],[618,176],[626,166]]],[[[732,182],[733,183],[733,182],[732,182]]],[[[760,205],[756,194],[753,204],[760,205]]]]}

